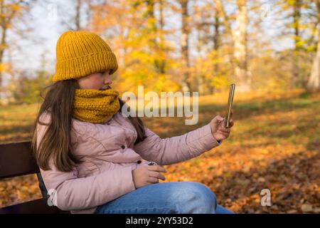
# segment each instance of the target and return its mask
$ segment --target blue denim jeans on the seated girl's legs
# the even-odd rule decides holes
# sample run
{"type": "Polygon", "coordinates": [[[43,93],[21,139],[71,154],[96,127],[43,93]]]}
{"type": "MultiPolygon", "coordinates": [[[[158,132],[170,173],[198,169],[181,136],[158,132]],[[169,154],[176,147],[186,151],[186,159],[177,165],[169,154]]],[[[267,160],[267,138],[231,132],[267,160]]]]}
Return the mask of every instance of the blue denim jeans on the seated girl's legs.
{"type": "Polygon", "coordinates": [[[97,214],[233,214],[197,182],[161,182],[140,187],[97,207],[97,214]]]}

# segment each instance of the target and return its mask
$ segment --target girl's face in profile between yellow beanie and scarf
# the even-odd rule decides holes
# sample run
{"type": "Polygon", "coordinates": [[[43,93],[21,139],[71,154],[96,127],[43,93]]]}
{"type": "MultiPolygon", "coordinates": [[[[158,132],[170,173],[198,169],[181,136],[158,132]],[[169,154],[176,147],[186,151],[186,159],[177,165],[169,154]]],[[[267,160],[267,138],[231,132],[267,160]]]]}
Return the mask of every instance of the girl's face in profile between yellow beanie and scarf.
{"type": "Polygon", "coordinates": [[[88,76],[78,79],[80,88],[82,89],[94,89],[94,90],[105,90],[110,88],[112,80],[110,78],[110,71],[96,72],[88,76]]]}

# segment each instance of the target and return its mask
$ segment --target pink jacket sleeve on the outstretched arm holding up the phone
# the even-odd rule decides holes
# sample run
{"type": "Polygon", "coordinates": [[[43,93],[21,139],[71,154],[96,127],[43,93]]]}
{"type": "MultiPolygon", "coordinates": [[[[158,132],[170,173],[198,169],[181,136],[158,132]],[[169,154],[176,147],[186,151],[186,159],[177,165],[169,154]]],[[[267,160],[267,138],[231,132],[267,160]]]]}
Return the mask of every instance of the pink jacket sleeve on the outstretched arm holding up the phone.
{"type": "Polygon", "coordinates": [[[213,147],[220,145],[211,133],[210,124],[192,130],[184,135],[161,139],[146,128],[144,141],[134,146],[143,159],[156,162],[159,165],[170,165],[201,155],[213,147]]]}

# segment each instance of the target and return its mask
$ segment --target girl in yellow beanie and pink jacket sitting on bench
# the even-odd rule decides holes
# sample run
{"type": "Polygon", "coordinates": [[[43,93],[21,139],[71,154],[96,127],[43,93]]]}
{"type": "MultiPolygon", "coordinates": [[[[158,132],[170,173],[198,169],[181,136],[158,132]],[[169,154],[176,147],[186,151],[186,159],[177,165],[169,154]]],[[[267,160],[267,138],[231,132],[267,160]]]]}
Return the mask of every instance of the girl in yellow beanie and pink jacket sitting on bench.
{"type": "MultiPolygon", "coordinates": [[[[169,165],[220,145],[230,129],[208,125],[161,139],[110,87],[117,59],[95,33],[58,39],[53,84],[36,118],[33,152],[57,207],[71,213],[228,213],[196,182],[162,182],[169,165]]],[[[230,121],[231,126],[233,120],[230,121]]]]}

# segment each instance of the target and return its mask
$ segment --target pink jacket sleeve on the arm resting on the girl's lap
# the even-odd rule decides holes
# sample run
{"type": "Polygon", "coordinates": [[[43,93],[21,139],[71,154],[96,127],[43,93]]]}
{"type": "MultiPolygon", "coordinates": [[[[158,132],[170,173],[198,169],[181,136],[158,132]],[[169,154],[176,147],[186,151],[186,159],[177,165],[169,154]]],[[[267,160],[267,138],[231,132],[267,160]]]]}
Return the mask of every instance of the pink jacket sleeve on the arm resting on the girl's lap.
{"type": "MultiPolygon", "coordinates": [[[[37,147],[46,128],[46,125],[37,125],[37,147]]],[[[55,205],[63,210],[90,209],[135,190],[131,167],[79,178],[76,168],[61,172],[52,160],[49,165],[51,170],[41,170],[43,182],[48,192],[55,190],[55,205]]]]}

